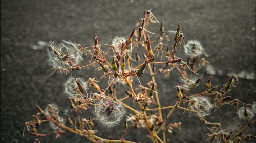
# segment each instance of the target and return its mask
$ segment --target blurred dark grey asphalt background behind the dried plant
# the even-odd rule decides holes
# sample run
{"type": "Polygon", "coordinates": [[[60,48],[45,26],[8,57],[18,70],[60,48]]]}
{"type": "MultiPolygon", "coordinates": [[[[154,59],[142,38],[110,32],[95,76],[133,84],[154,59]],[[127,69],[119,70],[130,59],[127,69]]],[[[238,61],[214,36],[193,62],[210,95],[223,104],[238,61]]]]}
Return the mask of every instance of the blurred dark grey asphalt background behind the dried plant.
{"type": "MultiPolygon", "coordinates": [[[[28,131],[24,137],[22,132],[24,122],[37,113],[37,105],[44,108],[55,103],[61,110],[68,109],[63,82],[70,75],[54,74],[44,80],[50,67],[45,47],[40,46],[42,41],[71,40],[92,46],[94,34],[97,34],[101,45],[110,44],[115,36],[129,36],[144,10],[150,8],[157,19],[164,22],[166,31],[175,30],[181,22],[185,41],[195,37],[201,42],[211,65],[204,70],[214,77],[214,85],[226,83],[232,73],[238,74],[237,88],[229,95],[246,103],[256,101],[255,3],[253,0],[1,1],[1,142],[34,142],[35,137],[28,131]]],[[[158,32],[159,25],[149,29],[158,32]]],[[[73,74],[84,79],[102,75],[93,68],[73,74]]],[[[148,79],[148,75],[143,76],[148,79]]],[[[165,79],[158,76],[156,80],[161,82],[158,90],[162,95],[162,106],[173,105],[175,84],[179,82],[177,73],[171,73],[165,79]]],[[[105,87],[103,83],[100,85],[105,87]]],[[[197,91],[203,91],[203,86],[204,83],[197,91]]],[[[164,110],[164,115],[167,113],[168,110],[164,110]]],[[[239,120],[231,106],[221,107],[207,119],[220,122],[228,132],[238,131],[246,124],[239,120]]],[[[182,122],[182,130],[167,134],[168,142],[209,142],[206,127],[210,126],[197,117],[189,117],[189,113],[177,110],[168,123],[178,121],[182,122]]],[[[113,129],[96,125],[96,129],[100,129],[97,135],[105,138],[112,135],[118,139],[123,124],[113,129]]],[[[255,129],[254,125],[247,133],[255,135],[255,129]]],[[[129,130],[125,139],[148,142],[145,133],[145,129],[129,130]]],[[[54,139],[54,135],[39,139],[41,142],[89,142],[70,133],[59,139],[54,139]]]]}

